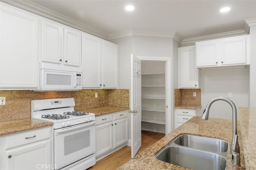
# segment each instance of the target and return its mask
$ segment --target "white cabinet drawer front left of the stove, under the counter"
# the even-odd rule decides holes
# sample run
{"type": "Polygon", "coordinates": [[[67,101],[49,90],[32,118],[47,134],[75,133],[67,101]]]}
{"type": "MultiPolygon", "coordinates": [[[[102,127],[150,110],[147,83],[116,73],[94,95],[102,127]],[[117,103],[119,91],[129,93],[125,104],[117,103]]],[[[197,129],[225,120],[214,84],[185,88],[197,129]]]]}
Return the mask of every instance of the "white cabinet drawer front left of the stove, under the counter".
{"type": "Polygon", "coordinates": [[[6,149],[49,139],[51,137],[51,130],[52,127],[43,127],[10,134],[6,137],[6,149]]]}

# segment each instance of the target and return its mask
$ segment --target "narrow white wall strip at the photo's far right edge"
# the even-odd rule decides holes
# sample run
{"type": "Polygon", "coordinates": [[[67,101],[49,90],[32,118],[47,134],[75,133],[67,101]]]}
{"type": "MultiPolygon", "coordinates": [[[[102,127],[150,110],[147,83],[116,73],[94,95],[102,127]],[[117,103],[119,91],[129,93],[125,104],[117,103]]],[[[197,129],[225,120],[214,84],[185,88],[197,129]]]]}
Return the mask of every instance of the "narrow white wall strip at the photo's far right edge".
{"type": "Polygon", "coordinates": [[[256,107],[256,25],[250,26],[250,45],[249,107],[256,107]]]}

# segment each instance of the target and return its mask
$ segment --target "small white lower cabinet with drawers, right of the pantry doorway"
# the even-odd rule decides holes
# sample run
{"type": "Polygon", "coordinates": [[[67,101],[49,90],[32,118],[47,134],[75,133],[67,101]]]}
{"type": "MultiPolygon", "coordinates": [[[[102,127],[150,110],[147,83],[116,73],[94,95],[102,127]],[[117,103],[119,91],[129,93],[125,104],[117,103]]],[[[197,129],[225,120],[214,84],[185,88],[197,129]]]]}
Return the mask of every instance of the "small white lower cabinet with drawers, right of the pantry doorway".
{"type": "Polygon", "coordinates": [[[200,108],[198,109],[180,109],[175,108],[175,129],[191,119],[193,116],[200,115],[200,108]]]}

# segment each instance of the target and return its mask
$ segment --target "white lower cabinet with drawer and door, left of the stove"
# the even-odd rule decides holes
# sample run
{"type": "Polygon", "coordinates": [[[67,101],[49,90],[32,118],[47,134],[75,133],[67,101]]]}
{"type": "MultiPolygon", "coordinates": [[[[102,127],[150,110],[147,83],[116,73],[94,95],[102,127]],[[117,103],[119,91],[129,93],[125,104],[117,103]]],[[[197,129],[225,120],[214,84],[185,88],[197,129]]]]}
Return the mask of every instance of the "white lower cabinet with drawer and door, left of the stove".
{"type": "Polygon", "coordinates": [[[53,169],[51,134],[48,126],[1,136],[0,169],[53,169]]]}

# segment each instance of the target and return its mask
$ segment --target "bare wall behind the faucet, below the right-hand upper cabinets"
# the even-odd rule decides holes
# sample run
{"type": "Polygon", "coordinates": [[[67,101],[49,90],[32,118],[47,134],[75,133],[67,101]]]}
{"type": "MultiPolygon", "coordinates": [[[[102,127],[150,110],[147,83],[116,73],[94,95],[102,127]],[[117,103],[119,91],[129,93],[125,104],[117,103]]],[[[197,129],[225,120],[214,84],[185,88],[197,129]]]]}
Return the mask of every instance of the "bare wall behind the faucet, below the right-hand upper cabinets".
{"type": "MultiPolygon", "coordinates": [[[[201,113],[215,97],[227,97],[238,107],[248,107],[249,68],[223,68],[201,70],[201,113]],[[232,97],[228,97],[232,92],[232,97]]],[[[224,101],[216,101],[209,117],[232,119],[232,108],[224,101]]],[[[239,115],[238,115],[239,118],[239,115]]]]}

